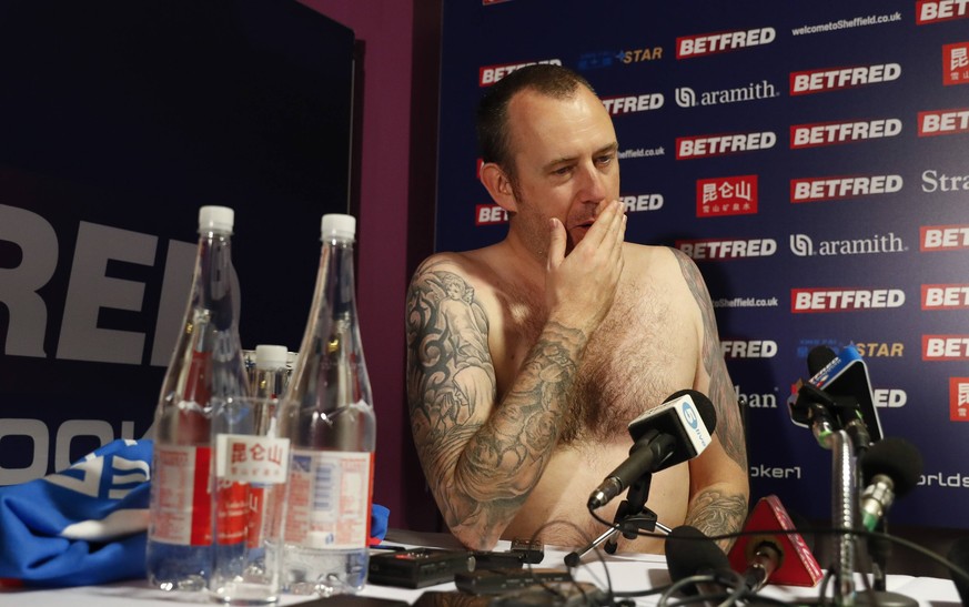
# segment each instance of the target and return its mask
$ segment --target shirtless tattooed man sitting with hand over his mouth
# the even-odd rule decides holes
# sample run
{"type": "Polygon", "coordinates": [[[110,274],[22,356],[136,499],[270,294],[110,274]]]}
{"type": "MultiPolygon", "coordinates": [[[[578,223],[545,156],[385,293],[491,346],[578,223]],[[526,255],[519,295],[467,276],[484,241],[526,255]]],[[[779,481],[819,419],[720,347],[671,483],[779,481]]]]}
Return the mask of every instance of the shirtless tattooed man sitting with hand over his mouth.
{"type": "Polygon", "coordinates": [[[407,295],[411,426],[451,532],[474,549],[536,532],[584,546],[605,530],[586,502],[628,456],[627,424],[683,388],[715,404],[715,437],[654,474],[646,506],[668,527],[739,530],[747,456],[709,295],[680,252],[623,242],[603,103],[567,69],[523,68],[482,101],[478,138],[507,236],[428,257],[407,295]]]}

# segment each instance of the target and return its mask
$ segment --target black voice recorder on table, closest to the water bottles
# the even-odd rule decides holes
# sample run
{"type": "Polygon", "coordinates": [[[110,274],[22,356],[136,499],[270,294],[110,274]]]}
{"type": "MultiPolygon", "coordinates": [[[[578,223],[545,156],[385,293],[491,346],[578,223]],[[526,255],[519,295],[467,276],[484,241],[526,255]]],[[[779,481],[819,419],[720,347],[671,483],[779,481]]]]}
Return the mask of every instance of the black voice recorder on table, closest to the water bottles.
{"type": "Polygon", "coordinates": [[[371,555],[367,581],[377,586],[425,588],[445,584],[457,573],[470,573],[475,560],[466,550],[414,548],[371,555]]]}

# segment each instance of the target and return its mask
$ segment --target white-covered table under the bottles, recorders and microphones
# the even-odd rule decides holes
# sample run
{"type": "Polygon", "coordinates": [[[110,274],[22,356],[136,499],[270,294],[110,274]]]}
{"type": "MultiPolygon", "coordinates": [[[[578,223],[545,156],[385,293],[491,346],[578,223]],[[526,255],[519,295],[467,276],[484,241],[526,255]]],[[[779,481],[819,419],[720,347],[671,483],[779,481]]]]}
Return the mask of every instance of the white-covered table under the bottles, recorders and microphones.
{"type": "MultiPolygon", "coordinates": [[[[391,529],[385,543],[408,547],[460,548],[457,542],[447,534],[418,534],[398,529],[391,529]]],[[[496,549],[505,550],[507,548],[507,543],[503,542],[496,549]]],[[[546,547],[545,560],[539,566],[564,569],[564,559],[567,553],[567,549],[546,547]]],[[[583,559],[584,564],[574,571],[575,578],[605,588],[607,573],[608,579],[612,580],[612,587],[616,591],[645,590],[665,586],[670,581],[666,570],[666,558],[662,555],[603,555],[603,560],[604,563],[595,555],[586,555],[583,559]]],[[[453,583],[416,590],[367,584],[362,594],[413,604],[426,590],[454,589],[453,583]]],[[[920,606],[956,607],[961,605],[956,586],[949,579],[889,575],[887,589],[911,597],[918,600],[920,606]]],[[[761,594],[779,600],[793,601],[799,598],[817,598],[818,588],[768,585],[761,594]]],[[[280,605],[295,605],[310,598],[312,597],[283,595],[280,605]]],[[[636,604],[642,606],[656,605],[657,601],[658,595],[636,598],[636,604]]],[[[54,605],[70,605],[71,607],[172,607],[173,604],[180,603],[214,605],[203,594],[164,593],[150,588],[142,580],[49,590],[0,591],[0,606],[9,605],[10,607],[50,607],[54,605]]]]}

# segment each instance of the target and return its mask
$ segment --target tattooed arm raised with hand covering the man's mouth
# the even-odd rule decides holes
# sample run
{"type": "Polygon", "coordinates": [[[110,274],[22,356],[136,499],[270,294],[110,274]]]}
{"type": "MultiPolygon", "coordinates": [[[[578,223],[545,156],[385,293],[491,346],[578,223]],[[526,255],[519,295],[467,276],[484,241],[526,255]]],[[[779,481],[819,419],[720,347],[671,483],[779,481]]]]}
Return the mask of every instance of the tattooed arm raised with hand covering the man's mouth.
{"type": "Polygon", "coordinates": [[[549,223],[547,320],[525,360],[511,365],[517,374],[501,402],[494,365],[508,365],[492,358],[487,308],[466,270],[473,262],[436,255],[414,274],[406,320],[411,429],[448,528],[471,548],[494,547],[554,454],[578,361],[615,297],[624,231],[622,206],[609,206],[566,256],[565,230],[549,223]]]}

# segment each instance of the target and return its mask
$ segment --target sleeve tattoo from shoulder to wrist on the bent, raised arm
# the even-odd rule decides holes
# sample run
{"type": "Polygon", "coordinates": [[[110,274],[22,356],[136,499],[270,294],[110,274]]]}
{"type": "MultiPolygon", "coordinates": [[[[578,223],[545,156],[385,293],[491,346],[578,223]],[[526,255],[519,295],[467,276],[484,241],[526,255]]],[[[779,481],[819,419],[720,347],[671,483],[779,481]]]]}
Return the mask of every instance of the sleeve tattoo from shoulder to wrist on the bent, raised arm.
{"type": "Polygon", "coordinates": [[[488,323],[474,289],[432,264],[407,295],[407,401],[425,476],[448,526],[506,525],[541,478],[582,335],[546,326],[496,404],[488,323]]]}

